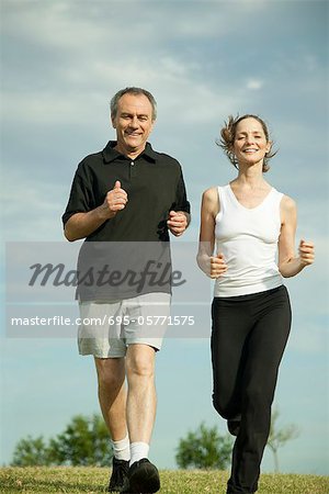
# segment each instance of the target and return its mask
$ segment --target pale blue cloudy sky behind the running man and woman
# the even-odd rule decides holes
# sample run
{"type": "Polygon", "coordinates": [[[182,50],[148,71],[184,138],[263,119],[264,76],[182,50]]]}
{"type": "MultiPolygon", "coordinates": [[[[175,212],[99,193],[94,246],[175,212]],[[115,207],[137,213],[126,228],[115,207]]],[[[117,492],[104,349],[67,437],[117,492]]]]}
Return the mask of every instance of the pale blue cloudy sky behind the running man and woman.
{"type": "MultiPolygon", "coordinates": [[[[311,239],[317,255],[286,280],[293,328],[275,405],[279,425],[295,424],[299,436],[280,450],[280,468],[328,474],[328,3],[1,0],[0,8],[3,308],[5,245],[26,252],[67,245],[60,217],[72,176],[114,137],[109,102],[118,89],[140,86],[156,97],[150,142],[183,167],[192,223],[178,242],[189,254],[202,192],[235,178],[216,146],[223,122],[259,114],[279,149],[266,179],[297,202],[296,243],[311,239]]],[[[175,468],[179,438],[202,422],[226,434],[212,407],[206,282],[203,333],[171,333],[157,356],[150,458],[159,468],[175,468]]],[[[3,311],[0,356],[0,464],[22,437],[47,439],[73,415],[99,412],[93,361],[78,356],[75,335],[13,337],[3,311]]],[[[273,471],[268,450],[262,468],[273,471]]]]}

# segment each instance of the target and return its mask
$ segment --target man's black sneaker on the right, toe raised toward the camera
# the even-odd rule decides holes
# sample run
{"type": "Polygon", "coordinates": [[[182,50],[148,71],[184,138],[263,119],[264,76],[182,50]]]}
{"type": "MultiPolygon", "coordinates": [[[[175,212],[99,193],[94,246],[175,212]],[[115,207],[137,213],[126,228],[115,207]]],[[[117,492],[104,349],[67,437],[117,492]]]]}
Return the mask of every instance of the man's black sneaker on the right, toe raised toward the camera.
{"type": "Polygon", "coordinates": [[[147,458],[135,461],[128,471],[128,475],[121,493],[125,494],[154,494],[160,489],[160,478],[156,465],[147,458]]]}

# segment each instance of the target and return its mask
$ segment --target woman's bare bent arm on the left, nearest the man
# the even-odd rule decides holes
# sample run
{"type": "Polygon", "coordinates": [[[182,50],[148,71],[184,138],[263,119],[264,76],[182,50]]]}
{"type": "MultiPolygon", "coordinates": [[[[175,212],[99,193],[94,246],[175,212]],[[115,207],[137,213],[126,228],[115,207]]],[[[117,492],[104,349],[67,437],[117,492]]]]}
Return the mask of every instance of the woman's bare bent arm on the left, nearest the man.
{"type": "Polygon", "coordinates": [[[202,195],[198,252],[196,261],[200,269],[209,278],[218,278],[227,270],[222,254],[213,256],[215,247],[215,218],[219,212],[216,188],[207,189],[202,195]]]}

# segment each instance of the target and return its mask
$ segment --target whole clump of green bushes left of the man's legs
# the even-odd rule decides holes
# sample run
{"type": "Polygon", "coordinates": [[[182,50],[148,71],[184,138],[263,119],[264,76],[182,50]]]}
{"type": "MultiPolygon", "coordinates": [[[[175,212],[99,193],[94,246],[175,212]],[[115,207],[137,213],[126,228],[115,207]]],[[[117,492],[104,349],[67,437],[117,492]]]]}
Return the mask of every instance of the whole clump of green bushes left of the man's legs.
{"type": "Polygon", "coordinates": [[[42,437],[21,439],[14,450],[13,464],[97,465],[110,464],[112,449],[104,420],[99,415],[72,417],[64,433],[45,445],[42,437]]]}

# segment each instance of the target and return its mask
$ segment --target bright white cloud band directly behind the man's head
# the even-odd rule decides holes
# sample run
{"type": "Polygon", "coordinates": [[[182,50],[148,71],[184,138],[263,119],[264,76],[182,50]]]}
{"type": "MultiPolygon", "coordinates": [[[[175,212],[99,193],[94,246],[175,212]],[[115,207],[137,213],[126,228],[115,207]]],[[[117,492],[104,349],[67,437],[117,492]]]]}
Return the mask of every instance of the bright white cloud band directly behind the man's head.
{"type": "Polygon", "coordinates": [[[163,56],[157,65],[146,63],[138,56],[124,60],[105,60],[95,58],[88,72],[82,67],[59,70],[61,87],[32,88],[29,92],[4,91],[3,115],[7,122],[20,122],[32,125],[66,125],[83,122],[88,111],[94,105],[106,104],[104,93],[110,97],[121,87],[134,85],[150,88],[158,102],[163,102],[161,119],[171,120],[174,124],[188,125],[217,121],[218,115],[227,115],[243,100],[243,93],[229,93],[226,83],[214,83],[214,80],[202,80],[202,67],[197,63],[183,63],[180,57],[163,56]],[[138,71],[143,66],[143,70],[138,71]],[[134,75],[134,76],[133,76],[134,75]],[[90,81],[98,81],[90,86],[90,81]],[[111,91],[112,88],[112,91],[111,91]],[[152,89],[155,88],[155,89],[152,89]],[[86,94],[88,92],[88,99],[86,94]],[[225,94],[225,98],[223,97],[225,94]],[[102,100],[102,101],[101,101],[102,100]]]}

